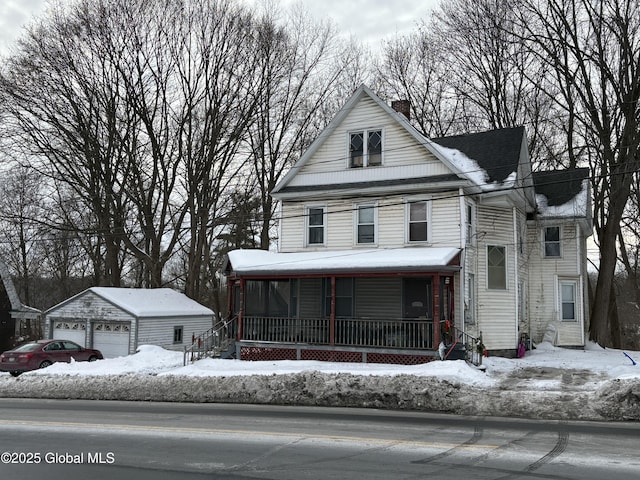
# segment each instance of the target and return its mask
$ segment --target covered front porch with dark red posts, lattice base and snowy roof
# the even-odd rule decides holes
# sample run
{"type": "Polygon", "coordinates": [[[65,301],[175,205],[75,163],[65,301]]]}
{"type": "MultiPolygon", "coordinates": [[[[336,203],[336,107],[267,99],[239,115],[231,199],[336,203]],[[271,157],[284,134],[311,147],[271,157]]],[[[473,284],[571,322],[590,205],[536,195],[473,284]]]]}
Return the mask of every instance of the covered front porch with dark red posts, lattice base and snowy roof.
{"type": "Polygon", "coordinates": [[[243,360],[424,363],[453,335],[458,249],[237,250],[226,271],[243,360]]]}

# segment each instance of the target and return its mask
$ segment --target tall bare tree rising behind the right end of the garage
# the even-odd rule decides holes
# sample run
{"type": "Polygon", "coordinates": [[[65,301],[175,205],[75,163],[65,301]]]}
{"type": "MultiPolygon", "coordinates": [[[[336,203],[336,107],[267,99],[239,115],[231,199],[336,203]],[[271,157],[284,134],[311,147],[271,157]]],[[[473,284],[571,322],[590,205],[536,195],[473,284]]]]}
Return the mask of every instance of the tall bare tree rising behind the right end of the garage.
{"type": "Polygon", "coordinates": [[[215,237],[231,205],[235,184],[243,181],[246,152],[240,154],[254,121],[261,85],[252,15],[231,2],[197,0],[183,9],[172,58],[177,139],[186,213],[185,291],[206,296],[215,237]],[[240,178],[239,178],[240,177],[240,178]]]}

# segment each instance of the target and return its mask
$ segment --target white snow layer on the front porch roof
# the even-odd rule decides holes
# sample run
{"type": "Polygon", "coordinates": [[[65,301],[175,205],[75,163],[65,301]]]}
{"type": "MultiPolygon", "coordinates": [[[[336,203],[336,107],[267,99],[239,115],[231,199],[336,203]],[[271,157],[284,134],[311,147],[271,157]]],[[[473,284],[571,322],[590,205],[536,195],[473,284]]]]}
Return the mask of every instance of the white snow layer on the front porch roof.
{"type": "Polygon", "coordinates": [[[458,253],[459,248],[444,247],[295,253],[233,250],[229,269],[236,275],[417,272],[443,270],[458,253]]]}

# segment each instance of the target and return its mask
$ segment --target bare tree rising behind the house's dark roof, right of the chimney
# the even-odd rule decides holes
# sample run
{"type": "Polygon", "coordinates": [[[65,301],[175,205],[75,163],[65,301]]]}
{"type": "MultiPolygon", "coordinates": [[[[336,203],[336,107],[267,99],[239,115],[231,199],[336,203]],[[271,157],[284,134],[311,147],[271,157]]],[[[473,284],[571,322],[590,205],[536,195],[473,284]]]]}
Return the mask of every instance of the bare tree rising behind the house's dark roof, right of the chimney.
{"type": "Polygon", "coordinates": [[[547,74],[517,35],[507,0],[443,2],[420,29],[384,45],[376,76],[387,96],[411,102],[428,137],[527,126],[534,161],[554,156],[547,74]]]}

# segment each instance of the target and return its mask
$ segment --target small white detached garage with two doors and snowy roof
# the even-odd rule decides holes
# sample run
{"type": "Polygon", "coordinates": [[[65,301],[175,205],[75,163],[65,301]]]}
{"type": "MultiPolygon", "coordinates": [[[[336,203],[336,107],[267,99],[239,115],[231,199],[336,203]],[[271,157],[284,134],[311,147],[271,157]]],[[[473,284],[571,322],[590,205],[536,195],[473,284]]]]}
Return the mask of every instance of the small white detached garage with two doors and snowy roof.
{"type": "Polygon", "coordinates": [[[45,338],[97,348],[105,358],[138,345],[182,350],[212,326],[212,310],[170,288],[93,287],[45,312],[45,338]]]}

